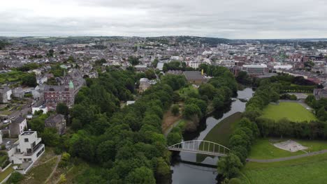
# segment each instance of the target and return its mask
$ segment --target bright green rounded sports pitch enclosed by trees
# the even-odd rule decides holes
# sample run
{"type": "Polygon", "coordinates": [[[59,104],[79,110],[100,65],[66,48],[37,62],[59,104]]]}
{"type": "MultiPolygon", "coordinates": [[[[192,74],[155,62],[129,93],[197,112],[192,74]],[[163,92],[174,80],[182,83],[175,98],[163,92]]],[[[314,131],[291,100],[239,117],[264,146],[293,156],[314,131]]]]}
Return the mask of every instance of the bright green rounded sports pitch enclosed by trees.
{"type": "Polygon", "coordinates": [[[290,121],[295,122],[317,120],[312,112],[297,102],[280,102],[279,105],[270,104],[263,110],[263,117],[272,118],[275,121],[281,118],[288,118],[290,121]]]}

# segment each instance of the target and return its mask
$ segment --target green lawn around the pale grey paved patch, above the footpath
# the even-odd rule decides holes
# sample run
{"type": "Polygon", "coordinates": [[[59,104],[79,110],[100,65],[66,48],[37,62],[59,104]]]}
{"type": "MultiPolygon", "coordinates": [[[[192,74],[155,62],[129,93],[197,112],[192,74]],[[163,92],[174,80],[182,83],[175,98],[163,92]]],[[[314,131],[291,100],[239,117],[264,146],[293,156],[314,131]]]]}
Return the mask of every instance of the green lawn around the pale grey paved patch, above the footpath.
{"type": "MultiPolygon", "coordinates": [[[[286,141],[288,139],[277,139],[277,140],[275,138],[272,139],[274,139],[274,142],[271,142],[270,139],[257,139],[251,148],[251,152],[249,153],[249,158],[273,159],[273,158],[284,158],[293,155],[305,154],[304,151],[297,151],[292,153],[273,146],[273,143],[286,141]]],[[[321,151],[327,149],[327,141],[312,141],[312,140],[297,140],[297,139],[291,139],[291,140],[296,141],[299,144],[302,144],[303,146],[306,146],[307,150],[305,151],[307,152],[321,151]]]]}

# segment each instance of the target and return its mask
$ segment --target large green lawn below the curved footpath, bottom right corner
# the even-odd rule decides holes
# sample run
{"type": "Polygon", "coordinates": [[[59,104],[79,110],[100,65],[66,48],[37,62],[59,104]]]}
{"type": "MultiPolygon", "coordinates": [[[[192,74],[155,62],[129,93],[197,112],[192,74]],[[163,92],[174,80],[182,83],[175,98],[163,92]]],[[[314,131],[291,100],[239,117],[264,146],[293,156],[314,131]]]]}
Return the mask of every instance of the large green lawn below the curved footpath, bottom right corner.
{"type": "Polygon", "coordinates": [[[242,169],[243,183],[326,183],[327,153],[283,162],[249,162],[242,169]]]}

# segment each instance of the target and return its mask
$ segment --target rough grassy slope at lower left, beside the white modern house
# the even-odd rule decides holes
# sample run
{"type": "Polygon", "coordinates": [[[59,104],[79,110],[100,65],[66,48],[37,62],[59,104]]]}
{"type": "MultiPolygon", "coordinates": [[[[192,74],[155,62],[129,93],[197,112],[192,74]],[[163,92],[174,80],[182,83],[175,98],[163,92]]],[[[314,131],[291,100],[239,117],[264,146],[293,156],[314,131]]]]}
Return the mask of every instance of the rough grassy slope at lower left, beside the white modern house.
{"type": "Polygon", "coordinates": [[[48,176],[50,176],[56,162],[57,158],[52,158],[50,161],[44,164],[40,164],[37,167],[32,167],[32,169],[24,176],[22,183],[44,183],[48,176]]]}

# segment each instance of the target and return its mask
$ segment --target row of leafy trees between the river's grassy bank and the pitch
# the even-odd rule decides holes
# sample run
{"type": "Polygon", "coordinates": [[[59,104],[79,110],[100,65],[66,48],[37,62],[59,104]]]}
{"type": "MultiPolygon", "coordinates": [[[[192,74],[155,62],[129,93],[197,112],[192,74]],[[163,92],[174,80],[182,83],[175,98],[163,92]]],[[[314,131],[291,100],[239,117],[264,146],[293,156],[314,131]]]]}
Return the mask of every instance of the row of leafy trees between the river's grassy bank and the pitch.
{"type": "Polygon", "coordinates": [[[221,158],[217,163],[219,179],[228,181],[240,174],[240,169],[246,162],[251,146],[260,135],[256,118],[261,116],[262,109],[271,101],[279,98],[279,84],[271,84],[263,79],[259,82],[254,96],[247,102],[243,118],[229,139],[231,153],[221,158]]]}

